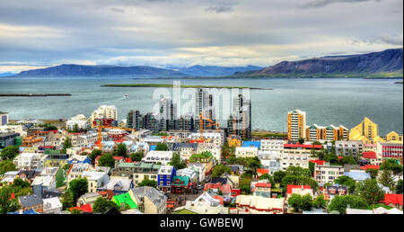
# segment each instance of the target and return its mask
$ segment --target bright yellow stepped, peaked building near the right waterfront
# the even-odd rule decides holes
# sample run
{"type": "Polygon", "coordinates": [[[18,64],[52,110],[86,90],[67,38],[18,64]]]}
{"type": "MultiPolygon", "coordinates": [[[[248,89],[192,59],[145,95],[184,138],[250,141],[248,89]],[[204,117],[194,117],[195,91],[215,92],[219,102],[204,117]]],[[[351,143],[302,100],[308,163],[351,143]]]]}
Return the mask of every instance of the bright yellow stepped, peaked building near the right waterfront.
{"type": "Polygon", "coordinates": [[[364,120],[359,125],[351,129],[349,140],[360,140],[365,144],[384,142],[384,139],[379,137],[377,124],[367,117],[364,117],[364,120]]]}

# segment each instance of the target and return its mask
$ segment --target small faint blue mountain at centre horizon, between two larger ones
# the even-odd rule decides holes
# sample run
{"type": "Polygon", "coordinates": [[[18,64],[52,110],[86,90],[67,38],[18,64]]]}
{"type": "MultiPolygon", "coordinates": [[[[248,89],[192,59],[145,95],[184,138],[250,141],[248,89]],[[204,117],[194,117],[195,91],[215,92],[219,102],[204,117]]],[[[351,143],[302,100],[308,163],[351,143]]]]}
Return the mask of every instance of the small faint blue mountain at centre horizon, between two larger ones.
{"type": "Polygon", "coordinates": [[[192,66],[178,68],[180,73],[189,76],[231,76],[235,72],[247,72],[251,70],[259,70],[262,67],[246,66],[246,67],[219,67],[219,66],[192,66]]]}

